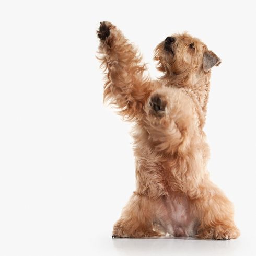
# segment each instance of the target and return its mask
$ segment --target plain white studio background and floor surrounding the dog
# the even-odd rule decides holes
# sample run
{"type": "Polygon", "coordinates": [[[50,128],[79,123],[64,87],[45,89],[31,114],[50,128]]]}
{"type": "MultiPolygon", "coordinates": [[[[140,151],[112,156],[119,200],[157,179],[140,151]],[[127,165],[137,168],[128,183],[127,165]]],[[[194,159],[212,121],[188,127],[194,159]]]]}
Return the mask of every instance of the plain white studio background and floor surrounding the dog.
{"type": "Polygon", "coordinates": [[[253,1],[1,1],[0,255],[255,254],[253,1]],[[235,204],[241,237],[111,239],[135,189],[130,123],[104,107],[99,22],[155,46],[189,31],[222,60],[205,131],[212,180],[235,204]]]}

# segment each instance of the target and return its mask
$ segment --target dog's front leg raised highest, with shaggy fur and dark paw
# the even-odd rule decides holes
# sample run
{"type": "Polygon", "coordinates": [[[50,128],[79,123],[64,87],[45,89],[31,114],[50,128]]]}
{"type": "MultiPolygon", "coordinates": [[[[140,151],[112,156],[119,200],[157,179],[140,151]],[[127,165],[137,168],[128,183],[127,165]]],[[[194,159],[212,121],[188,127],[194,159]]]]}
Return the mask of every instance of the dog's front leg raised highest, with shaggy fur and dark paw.
{"type": "Polygon", "coordinates": [[[145,65],[131,43],[110,22],[101,22],[98,59],[106,70],[104,100],[117,106],[126,119],[133,120],[143,113],[150,94],[150,80],[144,78],[145,65]]]}

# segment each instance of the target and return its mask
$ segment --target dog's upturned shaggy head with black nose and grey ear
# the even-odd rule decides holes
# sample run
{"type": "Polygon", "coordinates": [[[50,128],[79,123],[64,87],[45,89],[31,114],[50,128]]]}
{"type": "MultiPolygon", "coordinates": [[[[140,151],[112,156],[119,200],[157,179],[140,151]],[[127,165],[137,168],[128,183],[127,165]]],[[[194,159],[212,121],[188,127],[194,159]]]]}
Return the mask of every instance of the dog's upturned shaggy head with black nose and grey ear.
{"type": "Polygon", "coordinates": [[[163,78],[178,87],[193,86],[221,62],[201,40],[187,33],[173,34],[159,43],[154,60],[158,62],[158,70],[164,72],[163,78]]]}

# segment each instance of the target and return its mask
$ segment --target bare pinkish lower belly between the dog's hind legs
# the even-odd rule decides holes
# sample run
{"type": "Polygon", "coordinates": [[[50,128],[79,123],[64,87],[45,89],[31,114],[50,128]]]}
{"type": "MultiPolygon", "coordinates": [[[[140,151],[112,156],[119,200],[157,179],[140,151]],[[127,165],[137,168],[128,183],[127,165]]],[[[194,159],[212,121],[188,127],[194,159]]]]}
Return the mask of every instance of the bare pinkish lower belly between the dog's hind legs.
{"type": "Polygon", "coordinates": [[[196,235],[197,222],[185,197],[162,199],[157,206],[157,223],[161,231],[172,236],[196,235]]]}

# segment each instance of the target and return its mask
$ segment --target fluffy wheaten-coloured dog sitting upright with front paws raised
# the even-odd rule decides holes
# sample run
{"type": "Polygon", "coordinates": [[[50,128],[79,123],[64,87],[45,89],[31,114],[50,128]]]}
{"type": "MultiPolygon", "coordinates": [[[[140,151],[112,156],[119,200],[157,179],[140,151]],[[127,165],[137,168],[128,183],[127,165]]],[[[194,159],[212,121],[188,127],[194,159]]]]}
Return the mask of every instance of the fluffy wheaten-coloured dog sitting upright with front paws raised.
{"type": "Polygon", "coordinates": [[[106,71],[104,100],[135,122],[137,186],[113,237],[237,238],[232,203],[206,169],[209,79],[220,59],[199,39],[174,34],[157,45],[154,59],[164,75],[151,80],[120,30],[101,22],[97,33],[106,71]]]}

